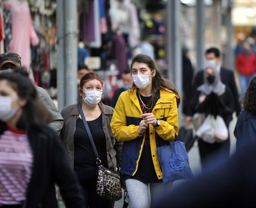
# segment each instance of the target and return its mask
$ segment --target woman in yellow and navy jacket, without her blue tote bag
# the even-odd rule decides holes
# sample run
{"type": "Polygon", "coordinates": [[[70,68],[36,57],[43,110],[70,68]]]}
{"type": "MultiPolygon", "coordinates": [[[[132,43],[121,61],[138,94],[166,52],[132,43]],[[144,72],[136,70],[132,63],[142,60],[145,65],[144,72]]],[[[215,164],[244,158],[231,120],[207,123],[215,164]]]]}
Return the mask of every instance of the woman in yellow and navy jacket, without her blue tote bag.
{"type": "Polygon", "coordinates": [[[113,136],[123,142],[122,167],[132,208],[149,208],[172,187],[163,185],[157,147],[178,134],[180,98],[147,55],[134,56],[132,89],[122,92],[113,112],[113,136]]]}

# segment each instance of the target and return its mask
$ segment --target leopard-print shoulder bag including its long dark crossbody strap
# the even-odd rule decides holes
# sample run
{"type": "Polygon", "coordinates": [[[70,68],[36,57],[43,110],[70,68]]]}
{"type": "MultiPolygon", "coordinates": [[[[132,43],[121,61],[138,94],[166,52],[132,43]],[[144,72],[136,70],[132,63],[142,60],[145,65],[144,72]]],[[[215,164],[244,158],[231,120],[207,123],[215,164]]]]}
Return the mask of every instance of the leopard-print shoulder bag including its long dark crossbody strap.
{"type": "Polygon", "coordinates": [[[78,103],[77,105],[79,113],[84,122],[84,127],[89,136],[90,143],[93,147],[93,152],[96,156],[96,163],[98,168],[96,192],[102,198],[117,201],[122,198],[122,188],[119,172],[109,170],[108,168],[105,168],[104,166],[101,165],[101,160],[99,159],[99,154],[93,142],[92,134],[90,133],[90,129],[84,118],[84,113],[81,109],[81,105],[80,103],[78,103]]]}

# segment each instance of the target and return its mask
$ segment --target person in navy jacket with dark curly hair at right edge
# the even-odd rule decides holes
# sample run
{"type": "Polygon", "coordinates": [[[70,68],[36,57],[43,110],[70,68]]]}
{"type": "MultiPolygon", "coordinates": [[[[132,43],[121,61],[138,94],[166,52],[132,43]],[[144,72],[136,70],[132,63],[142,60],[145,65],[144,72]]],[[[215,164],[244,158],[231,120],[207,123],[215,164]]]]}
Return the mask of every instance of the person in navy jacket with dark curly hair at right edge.
{"type": "Polygon", "coordinates": [[[256,77],[254,77],[242,97],[243,110],[236,122],[234,134],[236,149],[251,141],[256,141],[256,77]]]}

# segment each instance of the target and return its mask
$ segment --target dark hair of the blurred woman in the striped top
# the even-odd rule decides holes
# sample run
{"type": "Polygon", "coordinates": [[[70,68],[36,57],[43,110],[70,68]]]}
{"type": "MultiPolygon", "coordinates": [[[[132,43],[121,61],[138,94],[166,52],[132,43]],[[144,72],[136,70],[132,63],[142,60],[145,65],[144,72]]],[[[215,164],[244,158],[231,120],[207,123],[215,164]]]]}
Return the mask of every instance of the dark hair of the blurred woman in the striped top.
{"type": "Polygon", "coordinates": [[[19,98],[26,99],[22,114],[16,124],[17,129],[30,127],[41,128],[50,120],[48,111],[38,100],[37,91],[31,80],[19,72],[2,73],[0,80],[6,80],[8,85],[17,92],[19,98]]]}

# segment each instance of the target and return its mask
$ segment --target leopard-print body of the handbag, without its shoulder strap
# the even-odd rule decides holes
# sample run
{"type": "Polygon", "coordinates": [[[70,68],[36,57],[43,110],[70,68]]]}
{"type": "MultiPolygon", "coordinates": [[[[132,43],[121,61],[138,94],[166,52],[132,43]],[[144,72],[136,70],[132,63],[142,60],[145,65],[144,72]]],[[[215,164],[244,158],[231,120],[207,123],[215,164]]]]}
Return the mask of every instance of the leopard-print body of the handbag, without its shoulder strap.
{"type": "Polygon", "coordinates": [[[98,165],[96,192],[98,196],[117,201],[122,198],[119,173],[98,165]]]}

